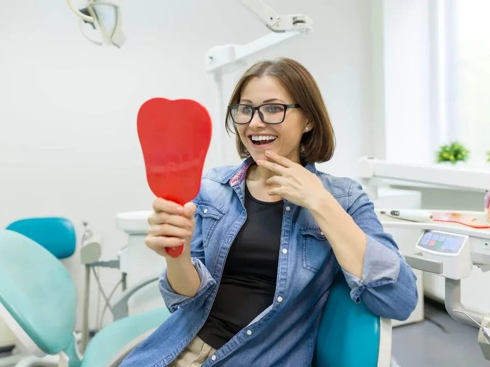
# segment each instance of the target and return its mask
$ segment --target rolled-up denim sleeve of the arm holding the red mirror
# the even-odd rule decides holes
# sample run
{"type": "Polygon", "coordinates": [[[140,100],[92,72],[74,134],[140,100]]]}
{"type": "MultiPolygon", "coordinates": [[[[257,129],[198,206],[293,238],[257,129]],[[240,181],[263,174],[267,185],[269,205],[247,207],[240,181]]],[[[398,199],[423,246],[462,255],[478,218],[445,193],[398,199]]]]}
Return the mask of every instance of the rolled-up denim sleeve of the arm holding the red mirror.
{"type": "MultiPolygon", "coordinates": [[[[194,199],[194,203],[198,205],[199,195],[194,199]]],[[[201,282],[197,293],[193,297],[182,296],[175,293],[172,289],[170,283],[168,282],[167,269],[165,268],[160,275],[158,286],[160,294],[163,297],[163,301],[170,312],[175,312],[175,310],[177,310],[179,307],[189,311],[199,309],[204,305],[206,298],[216,285],[216,280],[211,276],[206,268],[202,236],[202,218],[197,211],[194,218],[195,229],[194,234],[192,235],[192,241],[190,243],[190,255],[194,269],[197,271],[201,282]]]]}

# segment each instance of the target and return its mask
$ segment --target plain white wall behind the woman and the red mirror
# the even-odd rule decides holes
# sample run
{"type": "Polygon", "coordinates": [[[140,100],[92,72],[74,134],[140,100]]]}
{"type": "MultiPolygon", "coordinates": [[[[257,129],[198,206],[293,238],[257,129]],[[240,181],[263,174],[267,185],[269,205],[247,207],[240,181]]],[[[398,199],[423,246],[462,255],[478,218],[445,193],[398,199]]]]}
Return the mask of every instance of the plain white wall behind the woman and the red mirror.
{"type": "MultiPolygon", "coordinates": [[[[311,35],[261,57],[296,58],[311,70],[337,134],[334,159],[321,168],[355,175],[355,161],[373,148],[369,5],[363,0],[267,4],[313,18],[311,35]]],[[[87,220],[105,239],[103,257],[114,257],[126,242],[114,226],[115,214],[148,209],[153,200],[136,135],[141,103],[154,96],[192,98],[213,112],[205,52],[213,45],[248,42],[266,30],[238,1],[124,1],[127,43],[116,49],[86,41],[65,2],[10,2],[8,8],[0,22],[0,227],[22,217],[64,216],[80,235],[81,221],[87,220]]],[[[237,77],[226,78],[228,93],[237,77]]],[[[226,144],[235,154],[233,140],[226,144]]],[[[212,146],[206,167],[213,162],[212,146]]],[[[64,264],[79,289],[81,318],[78,251],[64,264]]],[[[102,277],[109,292],[118,273],[105,270],[102,277]]],[[[95,295],[94,287],[91,327],[95,295]]]]}

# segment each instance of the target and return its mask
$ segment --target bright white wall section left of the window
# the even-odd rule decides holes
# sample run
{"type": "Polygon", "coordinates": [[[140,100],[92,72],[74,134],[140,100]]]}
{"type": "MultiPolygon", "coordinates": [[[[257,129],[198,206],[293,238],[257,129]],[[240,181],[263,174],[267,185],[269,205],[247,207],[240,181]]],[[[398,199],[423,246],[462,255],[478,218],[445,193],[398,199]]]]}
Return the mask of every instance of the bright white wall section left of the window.
{"type": "Polygon", "coordinates": [[[433,102],[437,96],[431,90],[430,3],[371,0],[373,143],[379,159],[434,160],[433,102]]]}

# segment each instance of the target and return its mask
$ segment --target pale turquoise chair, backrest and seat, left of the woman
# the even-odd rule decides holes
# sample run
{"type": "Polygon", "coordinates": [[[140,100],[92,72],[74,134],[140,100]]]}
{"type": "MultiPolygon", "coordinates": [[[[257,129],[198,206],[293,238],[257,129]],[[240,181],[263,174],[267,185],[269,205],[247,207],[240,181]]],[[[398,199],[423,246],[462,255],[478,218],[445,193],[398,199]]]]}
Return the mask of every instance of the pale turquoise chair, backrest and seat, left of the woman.
{"type": "Polygon", "coordinates": [[[116,320],[95,334],[82,356],[74,336],[75,283],[50,251],[26,235],[0,230],[0,279],[0,316],[30,353],[59,355],[59,362],[48,365],[105,366],[169,316],[161,307],[116,320]]]}

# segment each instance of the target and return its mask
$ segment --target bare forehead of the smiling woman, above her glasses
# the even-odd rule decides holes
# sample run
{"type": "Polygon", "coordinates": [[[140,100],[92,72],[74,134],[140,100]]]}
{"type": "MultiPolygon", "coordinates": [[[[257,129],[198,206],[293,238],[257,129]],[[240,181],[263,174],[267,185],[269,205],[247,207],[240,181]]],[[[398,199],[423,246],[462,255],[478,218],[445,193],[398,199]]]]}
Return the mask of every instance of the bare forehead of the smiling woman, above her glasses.
{"type": "Polygon", "coordinates": [[[275,76],[253,77],[243,87],[240,99],[249,99],[256,103],[276,98],[289,102],[291,99],[288,91],[275,76]]]}

